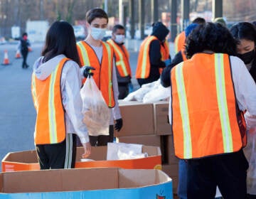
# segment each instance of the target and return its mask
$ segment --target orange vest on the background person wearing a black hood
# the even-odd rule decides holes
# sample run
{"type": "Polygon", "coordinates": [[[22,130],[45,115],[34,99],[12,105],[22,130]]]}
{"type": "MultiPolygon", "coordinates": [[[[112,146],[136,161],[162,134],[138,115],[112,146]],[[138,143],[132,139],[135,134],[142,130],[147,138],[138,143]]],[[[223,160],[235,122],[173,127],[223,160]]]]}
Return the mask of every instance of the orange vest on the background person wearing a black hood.
{"type": "MultiPolygon", "coordinates": [[[[149,72],[150,72],[150,60],[149,60],[149,46],[151,41],[158,40],[156,36],[148,36],[147,38],[144,39],[142,42],[142,45],[139,49],[139,58],[138,58],[138,63],[137,63],[137,70],[136,70],[136,75],[135,77],[146,79],[149,77],[149,72]]],[[[169,59],[169,44],[168,41],[164,43],[164,46],[161,45],[161,60],[166,60],[169,59]],[[166,56],[168,57],[166,58],[166,56]],[[164,56],[164,58],[163,58],[164,56]]],[[[159,70],[161,74],[161,70],[159,70]]]]}

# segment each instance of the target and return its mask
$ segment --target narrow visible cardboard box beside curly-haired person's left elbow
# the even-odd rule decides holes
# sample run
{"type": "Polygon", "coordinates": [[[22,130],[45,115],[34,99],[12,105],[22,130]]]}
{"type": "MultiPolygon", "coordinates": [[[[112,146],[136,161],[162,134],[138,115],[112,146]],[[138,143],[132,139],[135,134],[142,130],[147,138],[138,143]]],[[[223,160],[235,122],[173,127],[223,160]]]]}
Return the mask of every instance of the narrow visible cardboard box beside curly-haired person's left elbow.
{"type": "Polygon", "coordinates": [[[156,135],[170,135],[171,124],[169,122],[169,102],[154,103],[154,129],[156,135]]]}

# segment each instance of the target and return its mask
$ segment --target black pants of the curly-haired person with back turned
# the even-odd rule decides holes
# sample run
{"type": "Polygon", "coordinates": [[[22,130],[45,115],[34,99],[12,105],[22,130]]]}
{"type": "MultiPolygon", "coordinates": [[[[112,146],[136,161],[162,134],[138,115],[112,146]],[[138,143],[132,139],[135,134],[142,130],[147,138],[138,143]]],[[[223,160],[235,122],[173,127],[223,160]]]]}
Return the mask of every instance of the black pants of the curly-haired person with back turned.
{"type": "Polygon", "coordinates": [[[246,198],[248,162],[235,153],[188,160],[188,199],[215,198],[216,186],[225,199],[246,198]]]}

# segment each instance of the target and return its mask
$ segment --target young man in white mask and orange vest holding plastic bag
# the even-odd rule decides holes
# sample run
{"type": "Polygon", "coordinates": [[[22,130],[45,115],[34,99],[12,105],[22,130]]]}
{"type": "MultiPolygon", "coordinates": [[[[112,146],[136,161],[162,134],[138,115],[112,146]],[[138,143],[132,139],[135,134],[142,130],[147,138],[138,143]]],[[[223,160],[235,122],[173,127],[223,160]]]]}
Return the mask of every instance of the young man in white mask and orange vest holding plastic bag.
{"type": "Polygon", "coordinates": [[[86,21],[87,38],[85,38],[85,41],[77,43],[81,72],[85,78],[88,75],[93,75],[93,79],[102,92],[107,106],[111,109],[109,135],[90,135],[90,143],[92,146],[105,146],[107,142],[114,140],[114,129],[119,131],[122,128],[122,117],[118,104],[117,74],[114,66],[114,50],[110,44],[102,41],[108,23],[106,12],[99,8],[90,9],[87,11],[86,21]]]}

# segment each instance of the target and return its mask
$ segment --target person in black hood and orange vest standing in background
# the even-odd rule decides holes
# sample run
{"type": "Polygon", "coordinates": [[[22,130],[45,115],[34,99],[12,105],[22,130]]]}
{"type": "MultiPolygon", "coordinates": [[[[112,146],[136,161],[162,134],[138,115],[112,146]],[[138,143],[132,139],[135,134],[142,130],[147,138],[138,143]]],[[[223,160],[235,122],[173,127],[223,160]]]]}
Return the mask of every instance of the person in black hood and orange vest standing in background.
{"type": "Polygon", "coordinates": [[[162,68],[171,63],[166,36],[169,29],[161,22],[153,24],[151,36],[142,42],[135,77],[140,86],[159,80],[162,68]]]}

